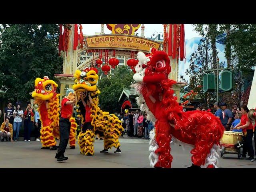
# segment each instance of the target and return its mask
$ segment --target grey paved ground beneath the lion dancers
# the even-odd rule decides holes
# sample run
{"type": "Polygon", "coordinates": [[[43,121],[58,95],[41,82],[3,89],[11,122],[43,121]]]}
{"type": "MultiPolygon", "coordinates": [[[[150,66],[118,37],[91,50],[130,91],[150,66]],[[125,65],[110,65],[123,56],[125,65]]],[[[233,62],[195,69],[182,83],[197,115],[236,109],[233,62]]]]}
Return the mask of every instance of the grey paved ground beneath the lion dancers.
{"type": "MultiPolygon", "coordinates": [[[[41,150],[41,142],[0,142],[0,168],[150,168],[148,161],[149,140],[140,138],[120,138],[121,154],[114,154],[115,148],[102,154],[103,140],[95,140],[94,156],[80,154],[79,146],[75,150],[66,149],[68,160],[56,162],[56,151],[41,150]]],[[[190,150],[182,150],[172,145],[172,168],[186,168],[191,165],[190,150]]],[[[220,158],[222,168],[256,168],[256,162],[239,160],[236,154],[225,154],[220,158]]]]}

